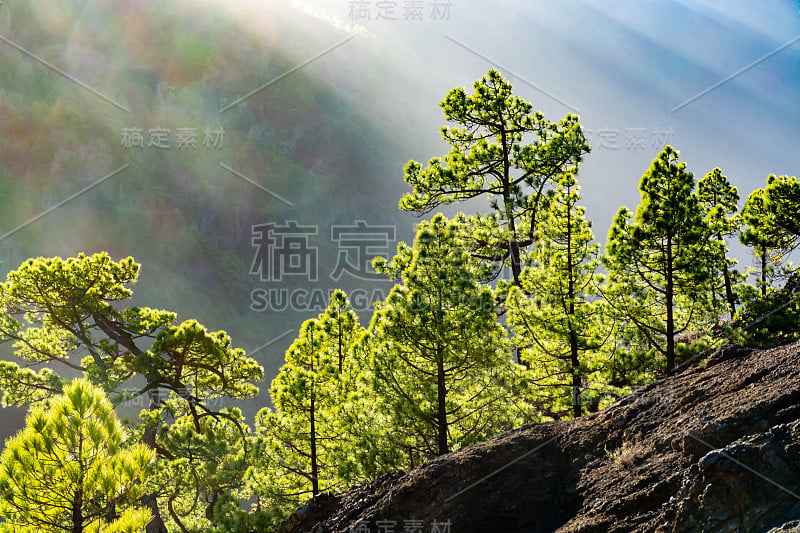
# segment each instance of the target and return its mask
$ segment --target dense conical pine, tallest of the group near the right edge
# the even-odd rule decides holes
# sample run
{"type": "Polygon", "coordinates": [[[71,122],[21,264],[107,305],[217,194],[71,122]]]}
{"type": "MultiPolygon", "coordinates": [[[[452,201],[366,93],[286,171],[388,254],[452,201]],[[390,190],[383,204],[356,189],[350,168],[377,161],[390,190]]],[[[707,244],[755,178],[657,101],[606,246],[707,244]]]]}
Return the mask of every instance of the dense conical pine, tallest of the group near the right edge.
{"type": "Polygon", "coordinates": [[[719,257],[693,189],[692,173],[665,147],[639,183],[635,217],[626,207],[617,212],[604,259],[607,301],[666,359],[667,373],[675,367],[675,336],[698,327],[707,313],[719,257]]]}

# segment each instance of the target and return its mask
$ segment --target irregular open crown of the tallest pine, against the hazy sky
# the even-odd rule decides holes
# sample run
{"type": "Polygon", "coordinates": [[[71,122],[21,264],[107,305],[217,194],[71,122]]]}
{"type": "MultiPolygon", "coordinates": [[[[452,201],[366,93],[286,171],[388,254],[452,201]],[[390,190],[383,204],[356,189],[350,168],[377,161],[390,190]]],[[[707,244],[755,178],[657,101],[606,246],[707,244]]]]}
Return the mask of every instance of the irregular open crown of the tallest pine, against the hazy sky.
{"type": "Polygon", "coordinates": [[[471,96],[453,89],[440,104],[445,119],[455,124],[441,130],[452,148],[424,168],[408,162],[405,181],[412,191],[400,200],[400,209],[423,214],[442,204],[488,198],[492,211],[471,218],[465,244],[498,270],[510,266],[518,283],[545,187],[575,171],[589,145],[577,116],[549,122],[512,96],[511,84],[496,70],[473,87],[471,96]]]}

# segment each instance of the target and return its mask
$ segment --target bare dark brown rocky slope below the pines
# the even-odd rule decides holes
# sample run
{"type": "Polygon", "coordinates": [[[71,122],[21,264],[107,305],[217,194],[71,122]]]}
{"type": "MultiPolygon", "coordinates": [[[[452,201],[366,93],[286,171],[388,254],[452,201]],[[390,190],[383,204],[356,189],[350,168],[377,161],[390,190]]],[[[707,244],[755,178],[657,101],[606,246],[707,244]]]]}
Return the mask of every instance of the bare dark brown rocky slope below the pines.
{"type": "Polygon", "coordinates": [[[602,412],[320,496],[281,528],[412,530],[800,532],[800,344],[728,346],[602,412]]]}

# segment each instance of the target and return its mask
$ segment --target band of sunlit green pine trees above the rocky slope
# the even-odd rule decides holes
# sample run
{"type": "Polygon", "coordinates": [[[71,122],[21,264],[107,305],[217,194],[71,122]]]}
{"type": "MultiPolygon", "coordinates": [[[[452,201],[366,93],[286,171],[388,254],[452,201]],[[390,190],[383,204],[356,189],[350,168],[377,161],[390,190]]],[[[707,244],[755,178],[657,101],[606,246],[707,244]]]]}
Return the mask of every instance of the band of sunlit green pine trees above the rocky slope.
{"type": "Polygon", "coordinates": [[[133,305],[134,258],[12,270],[0,390],[28,414],[0,457],[0,531],[273,530],[309,498],[602,410],[726,344],[797,340],[795,177],[742,202],[664,146],[601,246],[578,116],[547,119],[496,70],[473,90],[441,102],[450,151],[403,168],[416,236],[373,263],[393,288],[364,324],[333,291],[253,421],[239,404],[264,368],[225,331],[133,305]],[[758,268],[737,268],[736,239],[758,268]]]}

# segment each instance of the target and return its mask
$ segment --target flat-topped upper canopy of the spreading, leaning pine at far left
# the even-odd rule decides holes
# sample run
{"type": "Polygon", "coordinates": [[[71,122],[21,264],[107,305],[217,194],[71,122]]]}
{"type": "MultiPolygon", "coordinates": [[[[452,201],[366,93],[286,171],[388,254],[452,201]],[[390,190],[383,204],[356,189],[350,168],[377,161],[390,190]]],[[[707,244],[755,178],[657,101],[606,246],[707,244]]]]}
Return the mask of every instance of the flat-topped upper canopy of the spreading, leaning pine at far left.
{"type": "MultiPolygon", "coordinates": [[[[138,394],[163,388],[195,399],[255,395],[252,381],[263,370],[233,348],[225,332],[208,332],[195,320],[175,325],[168,311],[119,309],[138,271],[132,258],[117,263],[105,253],[28,260],[0,285],[0,334],[14,341],[20,359],[83,371],[108,391],[138,375],[147,381],[138,394]],[[140,341],[150,348],[140,348],[140,341]],[[75,361],[81,350],[89,356],[75,361]]],[[[32,380],[40,390],[57,392],[50,374],[4,370],[0,388],[7,403],[29,391],[32,380]]]]}

